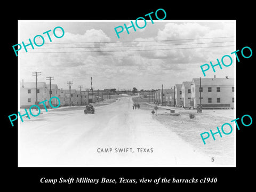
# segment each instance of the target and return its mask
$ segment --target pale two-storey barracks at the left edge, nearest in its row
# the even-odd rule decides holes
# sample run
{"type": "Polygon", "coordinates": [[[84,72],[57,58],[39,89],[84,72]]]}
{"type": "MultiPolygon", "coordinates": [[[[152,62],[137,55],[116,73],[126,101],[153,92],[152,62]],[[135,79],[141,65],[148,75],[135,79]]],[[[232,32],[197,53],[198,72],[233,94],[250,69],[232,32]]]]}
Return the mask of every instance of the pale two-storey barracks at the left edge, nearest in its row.
{"type": "MultiPolygon", "coordinates": [[[[37,82],[37,102],[44,100],[49,101],[49,89],[45,82],[37,82]]],[[[44,108],[43,103],[38,105],[36,103],[36,82],[23,82],[20,83],[20,108],[30,108],[30,106],[37,105],[44,108]]],[[[45,102],[49,107],[49,102],[45,102]]]]}

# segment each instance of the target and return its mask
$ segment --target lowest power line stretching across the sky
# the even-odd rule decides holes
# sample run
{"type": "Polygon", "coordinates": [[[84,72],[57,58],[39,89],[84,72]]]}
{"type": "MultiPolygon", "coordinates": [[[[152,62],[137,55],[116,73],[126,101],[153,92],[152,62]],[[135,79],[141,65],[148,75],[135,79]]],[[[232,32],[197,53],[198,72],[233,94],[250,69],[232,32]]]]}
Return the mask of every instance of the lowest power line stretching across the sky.
{"type": "Polygon", "coordinates": [[[202,47],[182,47],[182,48],[173,48],[173,49],[151,49],[151,50],[110,50],[110,51],[27,52],[27,54],[34,54],[34,53],[90,53],[90,52],[122,52],[122,51],[163,51],[163,50],[199,49],[199,48],[228,47],[228,46],[234,46],[234,45],[202,46],[202,47]]]}

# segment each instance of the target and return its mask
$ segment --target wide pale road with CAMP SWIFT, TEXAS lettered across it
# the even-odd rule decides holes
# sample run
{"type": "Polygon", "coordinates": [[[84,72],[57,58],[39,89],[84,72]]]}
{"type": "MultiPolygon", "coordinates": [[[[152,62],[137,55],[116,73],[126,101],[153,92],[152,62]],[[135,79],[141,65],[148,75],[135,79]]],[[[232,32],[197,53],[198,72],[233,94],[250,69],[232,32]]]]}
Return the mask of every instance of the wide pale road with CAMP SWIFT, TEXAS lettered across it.
{"type": "Polygon", "coordinates": [[[33,117],[20,123],[19,143],[19,166],[216,165],[149,110],[133,110],[130,97],[92,115],[69,110],[33,117]]]}

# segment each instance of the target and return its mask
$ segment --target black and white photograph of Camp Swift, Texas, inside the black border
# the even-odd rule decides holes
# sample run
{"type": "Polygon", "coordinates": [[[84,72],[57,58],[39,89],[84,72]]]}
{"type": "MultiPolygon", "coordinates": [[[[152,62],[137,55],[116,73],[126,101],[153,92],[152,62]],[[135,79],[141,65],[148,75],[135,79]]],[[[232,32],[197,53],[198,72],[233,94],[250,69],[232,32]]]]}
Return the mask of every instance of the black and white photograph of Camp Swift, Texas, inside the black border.
{"type": "Polygon", "coordinates": [[[236,20],[145,19],[18,21],[18,167],[236,166],[236,20]]]}

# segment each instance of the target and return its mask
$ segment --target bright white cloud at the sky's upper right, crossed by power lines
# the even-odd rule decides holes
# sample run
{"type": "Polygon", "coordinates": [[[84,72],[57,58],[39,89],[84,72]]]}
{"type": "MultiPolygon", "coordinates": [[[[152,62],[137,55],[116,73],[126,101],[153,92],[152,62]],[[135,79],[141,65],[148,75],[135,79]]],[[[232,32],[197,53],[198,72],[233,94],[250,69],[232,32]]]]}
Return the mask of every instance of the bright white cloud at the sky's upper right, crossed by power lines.
{"type": "MultiPolygon", "coordinates": [[[[213,23],[214,24],[214,23],[213,23]]],[[[209,58],[219,57],[223,53],[233,51],[232,47],[224,47],[232,43],[213,43],[230,41],[230,38],[215,39],[215,37],[225,37],[234,35],[234,24],[222,22],[222,27],[212,28],[202,25],[200,22],[187,23],[167,23],[163,30],[158,30],[157,40],[189,39],[184,41],[168,41],[168,44],[182,44],[175,46],[166,46],[175,51],[163,50],[162,54],[171,57],[172,63],[198,63],[204,62],[209,58]],[[201,39],[197,39],[201,38],[201,39]],[[208,39],[205,39],[208,38],[208,39]],[[186,45],[187,44],[187,45],[186,45]],[[212,47],[209,47],[212,46],[212,47]],[[215,46],[215,47],[214,47],[215,46]],[[219,46],[219,47],[218,47],[219,46]],[[223,47],[222,47],[223,46],[223,47]],[[190,49],[193,47],[193,49],[190,49]],[[198,48],[197,48],[198,47],[198,48]],[[203,47],[203,48],[200,48],[203,47]]],[[[167,43],[166,43],[167,44],[167,43]]]]}

